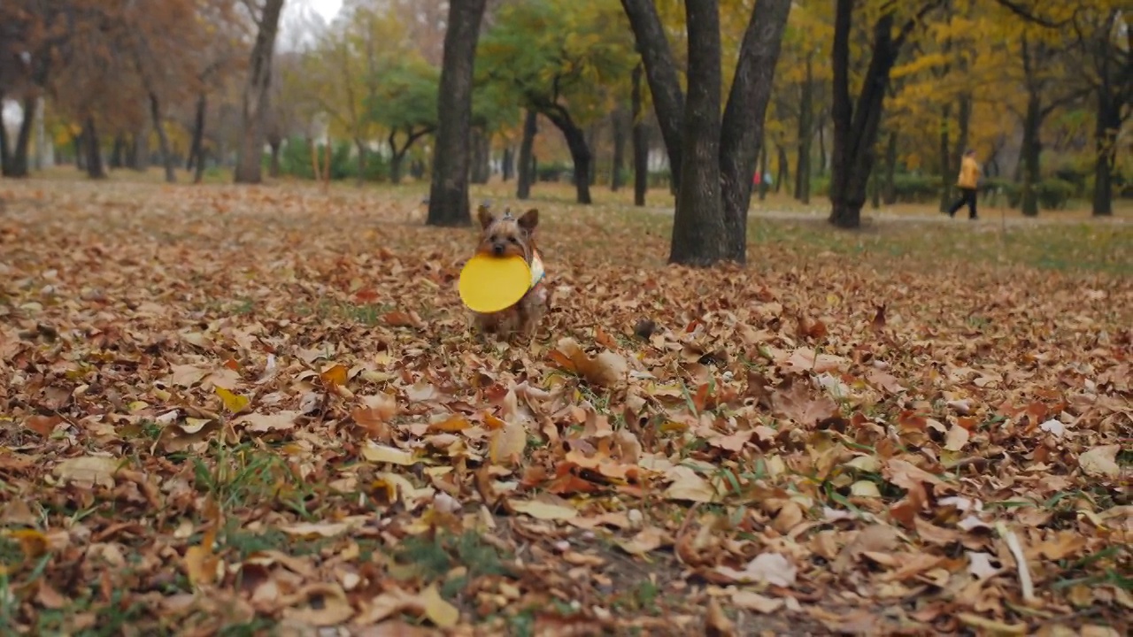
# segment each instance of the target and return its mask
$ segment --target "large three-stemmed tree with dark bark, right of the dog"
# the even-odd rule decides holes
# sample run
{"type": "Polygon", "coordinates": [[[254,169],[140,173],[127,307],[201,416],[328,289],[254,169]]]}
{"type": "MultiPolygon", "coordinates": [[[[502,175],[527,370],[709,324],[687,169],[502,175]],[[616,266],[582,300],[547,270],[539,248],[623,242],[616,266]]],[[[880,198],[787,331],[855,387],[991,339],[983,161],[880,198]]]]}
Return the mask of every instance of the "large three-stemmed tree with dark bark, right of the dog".
{"type": "Polygon", "coordinates": [[[680,176],[670,262],[744,263],[751,176],[791,2],[759,0],[751,9],[723,118],[719,2],[685,3],[688,97],[656,6],[622,0],[622,7],[645,63],[670,165],[680,176]]]}

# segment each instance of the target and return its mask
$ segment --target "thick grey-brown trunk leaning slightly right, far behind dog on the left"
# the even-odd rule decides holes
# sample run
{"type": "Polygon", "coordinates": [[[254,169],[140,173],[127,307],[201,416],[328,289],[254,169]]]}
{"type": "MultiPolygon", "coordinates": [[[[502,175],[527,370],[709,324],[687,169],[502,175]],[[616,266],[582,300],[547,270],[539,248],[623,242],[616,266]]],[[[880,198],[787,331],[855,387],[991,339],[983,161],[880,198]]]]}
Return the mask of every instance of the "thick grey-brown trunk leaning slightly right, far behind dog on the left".
{"type": "Polygon", "coordinates": [[[252,48],[248,80],[240,104],[240,141],[237,146],[235,181],[259,184],[263,181],[265,118],[271,102],[272,58],[275,54],[275,34],[279,31],[283,0],[265,0],[252,48]]]}

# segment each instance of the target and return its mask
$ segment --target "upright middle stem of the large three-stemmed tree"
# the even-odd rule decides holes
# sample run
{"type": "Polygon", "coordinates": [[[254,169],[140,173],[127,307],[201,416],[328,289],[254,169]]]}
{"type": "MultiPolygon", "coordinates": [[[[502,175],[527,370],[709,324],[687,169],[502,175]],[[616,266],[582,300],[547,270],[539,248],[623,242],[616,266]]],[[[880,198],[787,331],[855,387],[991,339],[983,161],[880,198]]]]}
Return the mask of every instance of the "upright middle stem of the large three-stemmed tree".
{"type": "Polygon", "coordinates": [[[706,266],[727,258],[733,239],[721,198],[719,6],[716,0],[685,2],[684,12],[692,80],[684,104],[683,163],[668,262],[706,266]]]}

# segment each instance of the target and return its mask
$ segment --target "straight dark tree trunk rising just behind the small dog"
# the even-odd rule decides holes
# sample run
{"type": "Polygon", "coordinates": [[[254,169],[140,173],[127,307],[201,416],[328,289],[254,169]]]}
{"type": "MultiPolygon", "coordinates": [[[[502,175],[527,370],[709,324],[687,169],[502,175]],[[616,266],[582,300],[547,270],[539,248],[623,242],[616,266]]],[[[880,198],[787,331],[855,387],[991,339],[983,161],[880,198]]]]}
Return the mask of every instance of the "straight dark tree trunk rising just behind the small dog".
{"type": "Polygon", "coordinates": [[[437,100],[436,148],[429,184],[429,226],[469,226],[468,163],[472,68],[486,0],[450,0],[437,100]]]}

